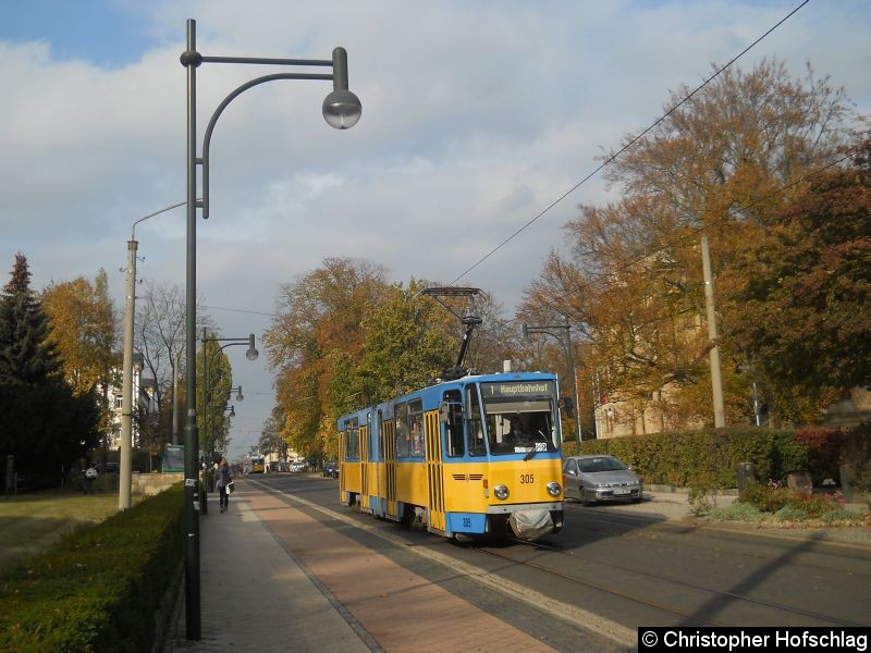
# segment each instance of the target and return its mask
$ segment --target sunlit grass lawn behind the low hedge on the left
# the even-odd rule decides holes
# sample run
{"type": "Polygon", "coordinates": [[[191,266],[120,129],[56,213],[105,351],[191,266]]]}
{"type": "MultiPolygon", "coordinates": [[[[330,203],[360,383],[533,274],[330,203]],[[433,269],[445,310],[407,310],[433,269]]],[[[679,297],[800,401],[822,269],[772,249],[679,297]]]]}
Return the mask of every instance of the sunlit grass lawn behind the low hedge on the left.
{"type": "MultiPolygon", "coordinates": [[[[132,501],[140,498],[134,496],[132,501]]],[[[40,492],[0,497],[0,574],[76,526],[102,521],[116,512],[116,493],[86,496],[40,492]]]]}

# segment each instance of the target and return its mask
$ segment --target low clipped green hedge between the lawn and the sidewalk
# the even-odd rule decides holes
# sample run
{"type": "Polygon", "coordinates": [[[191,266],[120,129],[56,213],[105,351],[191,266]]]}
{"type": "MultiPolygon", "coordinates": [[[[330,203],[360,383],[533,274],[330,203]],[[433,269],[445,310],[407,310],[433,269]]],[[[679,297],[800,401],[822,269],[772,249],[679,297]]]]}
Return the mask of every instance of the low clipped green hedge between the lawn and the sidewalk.
{"type": "Polygon", "coordinates": [[[7,571],[3,651],[150,651],[155,615],[182,560],[182,506],[177,483],[7,571]]]}

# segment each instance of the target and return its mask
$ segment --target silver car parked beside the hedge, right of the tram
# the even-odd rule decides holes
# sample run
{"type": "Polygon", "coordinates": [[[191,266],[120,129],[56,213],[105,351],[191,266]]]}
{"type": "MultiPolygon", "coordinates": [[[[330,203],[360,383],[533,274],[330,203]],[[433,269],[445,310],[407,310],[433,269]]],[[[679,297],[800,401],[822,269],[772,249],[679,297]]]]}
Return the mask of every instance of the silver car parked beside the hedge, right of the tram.
{"type": "Polygon", "coordinates": [[[638,475],[614,456],[569,456],[563,460],[566,498],[585,504],[599,501],[641,501],[638,475]]]}

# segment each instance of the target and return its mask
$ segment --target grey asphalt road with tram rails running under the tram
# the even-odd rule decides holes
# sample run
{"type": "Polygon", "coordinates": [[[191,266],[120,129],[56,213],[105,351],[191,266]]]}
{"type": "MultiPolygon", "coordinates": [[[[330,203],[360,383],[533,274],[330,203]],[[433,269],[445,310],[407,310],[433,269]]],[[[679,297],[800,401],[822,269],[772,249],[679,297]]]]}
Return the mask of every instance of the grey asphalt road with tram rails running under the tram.
{"type": "MultiPolygon", "coordinates": [[[[555,644],[579,627],[635,644],[639,626],[868,626],[871,551],[568,504],[536,544],[456,543],[338,503],[338,481],[252,479],[361,546],[555,644]]],[[[561,648],[557,645],[557,649],[561,648]]]]}

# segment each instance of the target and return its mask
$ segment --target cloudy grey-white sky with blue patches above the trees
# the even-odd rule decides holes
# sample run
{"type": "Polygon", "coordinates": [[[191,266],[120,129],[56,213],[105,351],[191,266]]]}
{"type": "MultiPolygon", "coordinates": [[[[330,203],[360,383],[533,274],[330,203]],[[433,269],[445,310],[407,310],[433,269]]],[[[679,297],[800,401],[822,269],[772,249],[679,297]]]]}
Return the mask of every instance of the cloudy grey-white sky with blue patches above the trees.
{"type": "MultiPolygon", "coordinates": [[[[282,285],[332,257],[395,282],[477,286],[512,317],[578,205],[614,197],[598,174],[575,188],[601,155],[801,2],[3,0],[0,279],[17,252],[37,292],[102,269],[123,315],[133,223],[186,198],[179,57],[194,19],[204,56],[329,59],[344,47],[363,103],[360,122],[336,131],[320,114],[328,82],[282,81],[221,114],[210,217],[196,226],[197,287],[221,337],[259,343],[282,285]]],[[[867,0],[810,0],[735,65],[776,58],[801,76],[810,63],[867,115],[869,34],[867,0]]],[[[198,69],[198,155],[223,98],[273,72],[198,69]]],[[[135,236],[137,278],[184,291],[184,208],[135,236]]],[[[266,352],[250,362],[245,348],[225,349],[246,397],[233,457],[256,444],[274,397],[266,352]]]]}

